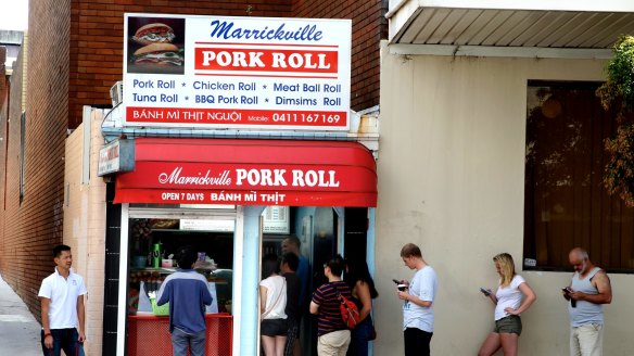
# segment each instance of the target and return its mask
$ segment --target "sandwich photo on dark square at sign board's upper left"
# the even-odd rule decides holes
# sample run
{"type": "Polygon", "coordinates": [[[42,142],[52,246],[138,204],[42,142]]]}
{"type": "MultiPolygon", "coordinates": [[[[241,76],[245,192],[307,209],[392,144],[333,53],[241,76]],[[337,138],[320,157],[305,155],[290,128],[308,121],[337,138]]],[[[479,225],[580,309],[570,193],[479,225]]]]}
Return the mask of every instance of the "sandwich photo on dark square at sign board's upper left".
{"type": "Polygon", "coordinates": [[[185,73],[185,18],[129,17],[128,38],[128,73],[185,73]]]}

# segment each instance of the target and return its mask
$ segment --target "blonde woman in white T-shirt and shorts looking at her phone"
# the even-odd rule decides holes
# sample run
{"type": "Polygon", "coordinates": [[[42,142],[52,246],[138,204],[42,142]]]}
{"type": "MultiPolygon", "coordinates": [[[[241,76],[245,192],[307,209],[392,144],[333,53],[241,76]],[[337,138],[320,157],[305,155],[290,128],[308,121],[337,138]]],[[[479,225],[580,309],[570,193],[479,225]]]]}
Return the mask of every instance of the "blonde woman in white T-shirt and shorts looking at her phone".
{"type": "Polygon", "coordinates": [[[495,269],[499,275],[499,285],[495,294],[482,290],[495,304],[495,328],[480,347],[479,356],[491,356],[500,347],[505,356],[518,354],[518,339],[522,333],[520,314],[525,312],[537,296],[529,283],[517,275],[511,255],[500,253],[493,257],[495,269]]]}

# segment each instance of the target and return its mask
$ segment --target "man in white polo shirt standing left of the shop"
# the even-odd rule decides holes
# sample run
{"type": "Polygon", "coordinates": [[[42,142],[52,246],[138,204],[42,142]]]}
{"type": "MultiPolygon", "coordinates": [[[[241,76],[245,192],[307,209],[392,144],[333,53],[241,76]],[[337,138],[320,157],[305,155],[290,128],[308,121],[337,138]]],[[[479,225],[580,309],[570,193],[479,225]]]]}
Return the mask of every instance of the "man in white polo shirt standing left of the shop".
{"type": "Polygon", "coordinates": [[[84,295],[88,291],[81,276],[71,269],[71,247],[55,246],[53,257],[55,271],[45,278],[38,293],[42,313],[42,353],[45,356],[60,356],[63,349],[66,355],[84,355],[84,295]]]}

